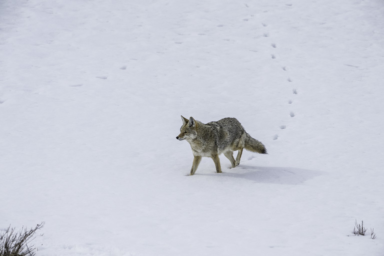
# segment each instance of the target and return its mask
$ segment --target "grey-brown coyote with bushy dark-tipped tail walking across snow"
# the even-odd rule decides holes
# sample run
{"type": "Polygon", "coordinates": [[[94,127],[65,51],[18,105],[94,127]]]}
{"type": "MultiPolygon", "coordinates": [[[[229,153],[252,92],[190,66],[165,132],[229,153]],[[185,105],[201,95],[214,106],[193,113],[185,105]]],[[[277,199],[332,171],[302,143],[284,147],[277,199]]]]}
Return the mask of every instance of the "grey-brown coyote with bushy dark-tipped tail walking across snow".
{"type": "Polygon", "coordinates": [[[216,122],[203,124],[192,117],[186,119],[181,116],[182,125],[178,140],[189,142],[193,153],[193,163],[190,175],[193,175],[201,161],[201,157],[210,157],[216,166],[216,172],[221,172],[220,159],[218,155],[224,153],[229,159],[232,167],[240,163],[242,150],[267,154],[264,145],[253,139],[244,130],[244,127],[236,118],[226,117],[216,122]],[[233,151],[237,150],[236,160],[233,158],[233,151]]]}

